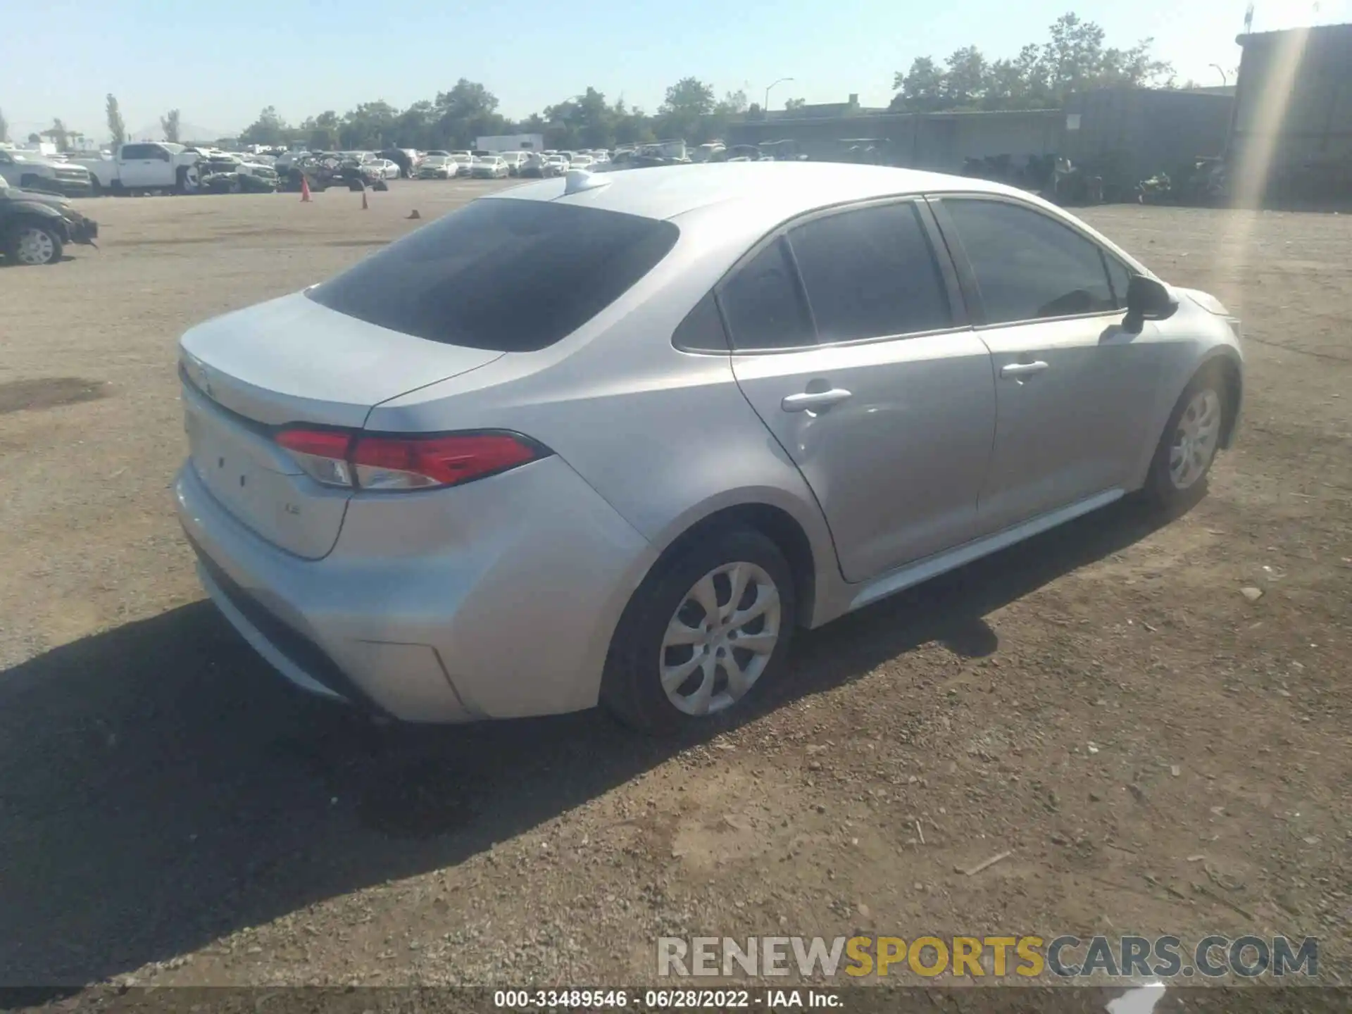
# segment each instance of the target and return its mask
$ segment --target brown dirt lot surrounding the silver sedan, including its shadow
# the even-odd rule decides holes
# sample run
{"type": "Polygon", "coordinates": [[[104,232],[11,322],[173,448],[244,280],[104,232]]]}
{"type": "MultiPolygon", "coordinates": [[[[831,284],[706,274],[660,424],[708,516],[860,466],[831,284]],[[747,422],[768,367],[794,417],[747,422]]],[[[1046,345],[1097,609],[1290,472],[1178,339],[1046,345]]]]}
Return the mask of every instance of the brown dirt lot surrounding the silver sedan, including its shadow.
{"type": "Polygon", "coordinates": [[[1110,508],[806,635],[703,742],[372,729],[201,600],[174,341],[489,185],[85,201],[101,251],[0,270],[0,984],[635,983],[700,932],[1286,932],[1336,972],[1352,216],[1086,214],[1248,329],[1241,442],[1172,525],[1110,508]]]}

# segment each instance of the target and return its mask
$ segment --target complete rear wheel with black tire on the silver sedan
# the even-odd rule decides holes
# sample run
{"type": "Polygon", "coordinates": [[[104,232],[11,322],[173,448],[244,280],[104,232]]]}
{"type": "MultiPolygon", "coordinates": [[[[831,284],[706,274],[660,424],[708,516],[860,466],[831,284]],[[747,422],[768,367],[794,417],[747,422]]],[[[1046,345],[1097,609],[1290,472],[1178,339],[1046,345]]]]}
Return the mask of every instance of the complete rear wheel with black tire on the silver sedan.
{"type": "Polygon", "coordinates": [[[671,734],[745,711],[773,683],[796,617],[792,569],[752,529],[703,533],[644,580],[611,641],[602,700],[626,725],[671,734]]]}

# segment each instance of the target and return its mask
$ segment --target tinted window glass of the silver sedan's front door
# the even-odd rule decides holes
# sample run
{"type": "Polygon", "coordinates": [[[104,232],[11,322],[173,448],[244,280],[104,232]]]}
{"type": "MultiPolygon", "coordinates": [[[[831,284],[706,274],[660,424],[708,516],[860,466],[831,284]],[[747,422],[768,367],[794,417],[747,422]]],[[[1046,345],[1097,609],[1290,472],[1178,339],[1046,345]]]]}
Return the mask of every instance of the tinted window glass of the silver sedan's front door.
{"type": "Polygon", "coordinates": [[[1046,215],[1015,204],[946,199],[986,307],[986,322],[1114,310],[1099,247],[1046,215]]]}

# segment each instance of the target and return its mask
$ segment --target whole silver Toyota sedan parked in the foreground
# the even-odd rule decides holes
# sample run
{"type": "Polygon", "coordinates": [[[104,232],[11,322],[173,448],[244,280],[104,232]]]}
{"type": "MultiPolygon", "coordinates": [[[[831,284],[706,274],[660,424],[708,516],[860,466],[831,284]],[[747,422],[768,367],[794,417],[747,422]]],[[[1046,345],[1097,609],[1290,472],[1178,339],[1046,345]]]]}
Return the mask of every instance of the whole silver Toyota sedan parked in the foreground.
{"type": "Polygon", "coordinates": [[[1201,498],[1240,326],[1048,201],[871,165],[572,172],[180,341],[174,496],[284,676],[676,730],[798,626],[1201,498]]]}

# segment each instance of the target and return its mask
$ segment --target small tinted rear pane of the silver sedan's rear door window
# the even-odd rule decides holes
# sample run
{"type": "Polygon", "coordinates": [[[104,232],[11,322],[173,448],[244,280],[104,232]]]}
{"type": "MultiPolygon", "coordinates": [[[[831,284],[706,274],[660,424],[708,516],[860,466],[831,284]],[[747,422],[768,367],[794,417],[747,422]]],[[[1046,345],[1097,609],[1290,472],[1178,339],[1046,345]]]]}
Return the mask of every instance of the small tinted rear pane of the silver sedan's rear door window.
{"type": "Polygon", "coordinates": [[[718,301],[737,349],[794,349],[817,342],[783,239],[725,281],[718,301]]]}

